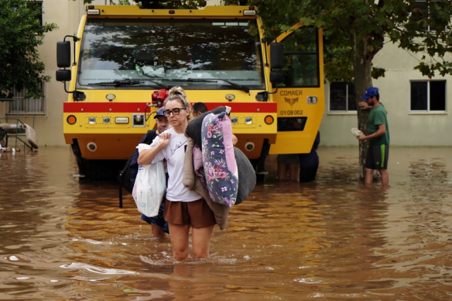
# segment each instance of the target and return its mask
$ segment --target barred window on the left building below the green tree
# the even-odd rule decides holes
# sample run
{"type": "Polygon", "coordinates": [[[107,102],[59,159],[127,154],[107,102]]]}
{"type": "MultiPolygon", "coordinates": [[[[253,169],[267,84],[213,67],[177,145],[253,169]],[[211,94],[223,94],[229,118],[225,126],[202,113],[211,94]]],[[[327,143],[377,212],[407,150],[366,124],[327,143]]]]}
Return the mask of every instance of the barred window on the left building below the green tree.
{"type": "Polygon", "coordinates": [[[8,116],[27,116],[27,115],[35,115],[35,116],[46,116],[47,115],[47,85],[44,81],[39,83],[39,88],[44,94],[42,98],[25,98],[27,94],[27,90],[23,88],[22,90],[18,90],[16,88],[13,89],[13,98],[15,101],[6,102],[6,115],[8,116]]]}

